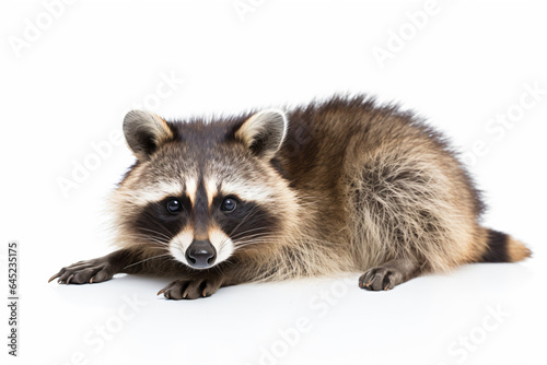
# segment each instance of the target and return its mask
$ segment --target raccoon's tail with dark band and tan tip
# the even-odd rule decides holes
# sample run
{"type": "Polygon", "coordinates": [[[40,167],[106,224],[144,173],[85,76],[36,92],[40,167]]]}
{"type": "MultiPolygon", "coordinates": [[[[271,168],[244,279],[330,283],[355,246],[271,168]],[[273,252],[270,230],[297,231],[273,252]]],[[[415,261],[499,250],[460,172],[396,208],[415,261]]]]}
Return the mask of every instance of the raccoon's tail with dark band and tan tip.
{"type": "Polygon", "coordinates": [[[532,256],[532,251],[510,235],[485,228],[487,247],[478,262],[516,262],[532,256]]]}

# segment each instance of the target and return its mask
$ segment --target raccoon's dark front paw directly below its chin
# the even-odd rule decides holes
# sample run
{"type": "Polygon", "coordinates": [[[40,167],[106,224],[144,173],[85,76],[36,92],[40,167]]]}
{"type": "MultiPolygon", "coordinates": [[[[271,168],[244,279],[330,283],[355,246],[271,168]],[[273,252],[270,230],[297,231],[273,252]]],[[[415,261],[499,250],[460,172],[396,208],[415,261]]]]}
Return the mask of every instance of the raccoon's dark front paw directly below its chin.
{"type": "Polygon", "coordinates": [[[214,294],[221,286],[220,278],[182,279],[171,282],[167,286],[158,292],[163,293],[167,299],[197,299],[214,294]]]}

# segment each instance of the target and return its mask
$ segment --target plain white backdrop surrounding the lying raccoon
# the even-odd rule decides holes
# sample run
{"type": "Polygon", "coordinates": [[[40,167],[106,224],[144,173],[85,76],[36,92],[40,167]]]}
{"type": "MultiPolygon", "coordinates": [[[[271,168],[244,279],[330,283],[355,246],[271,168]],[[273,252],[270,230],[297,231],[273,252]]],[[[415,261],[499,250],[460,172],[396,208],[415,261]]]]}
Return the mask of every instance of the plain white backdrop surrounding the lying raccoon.
{"type": "Polygon", "coordinates": [[[2,1],[2,293],[8,242],[21,245],[19,357],[2,305],[2,364],[545,364],[545,14],[540,1],[2,1]],[[129,109],[347,91],[446,132],[486,191],[485,224],[534,258],[386,293],[360,290],[359,273],[195,302],[156,297],[163,279],[46,283],[112,249],[103,212],[133,161],[129,109]]]}

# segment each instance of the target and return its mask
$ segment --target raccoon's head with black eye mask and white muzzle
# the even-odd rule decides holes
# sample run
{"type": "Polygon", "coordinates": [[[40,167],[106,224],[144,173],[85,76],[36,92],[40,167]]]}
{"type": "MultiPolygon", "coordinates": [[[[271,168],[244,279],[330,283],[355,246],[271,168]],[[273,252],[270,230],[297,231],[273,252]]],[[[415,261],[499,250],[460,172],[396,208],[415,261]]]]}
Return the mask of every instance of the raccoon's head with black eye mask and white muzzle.
{"type": "Polygon", "coordinates": [[[112,199],[118,243],[195,269],[278,245],[299,216],[272,165],[287,130],[278,109],[211,122],[128,113],[124,133],[137,163],[112,199]]]}

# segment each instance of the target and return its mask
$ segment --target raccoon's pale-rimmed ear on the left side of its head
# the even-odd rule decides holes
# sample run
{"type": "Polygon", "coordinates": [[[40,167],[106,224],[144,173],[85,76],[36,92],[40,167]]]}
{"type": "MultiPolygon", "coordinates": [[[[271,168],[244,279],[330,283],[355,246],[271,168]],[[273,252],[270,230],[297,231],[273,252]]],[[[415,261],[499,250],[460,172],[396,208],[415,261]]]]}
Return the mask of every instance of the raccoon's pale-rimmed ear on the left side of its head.
{"type": "Polygon", "coordinates": [[[126,115],[124,134],[138,160],[147,160],[162,143],[173,139],[173,131],[165,120],[142,110],[131,110],[126,115]]]}

